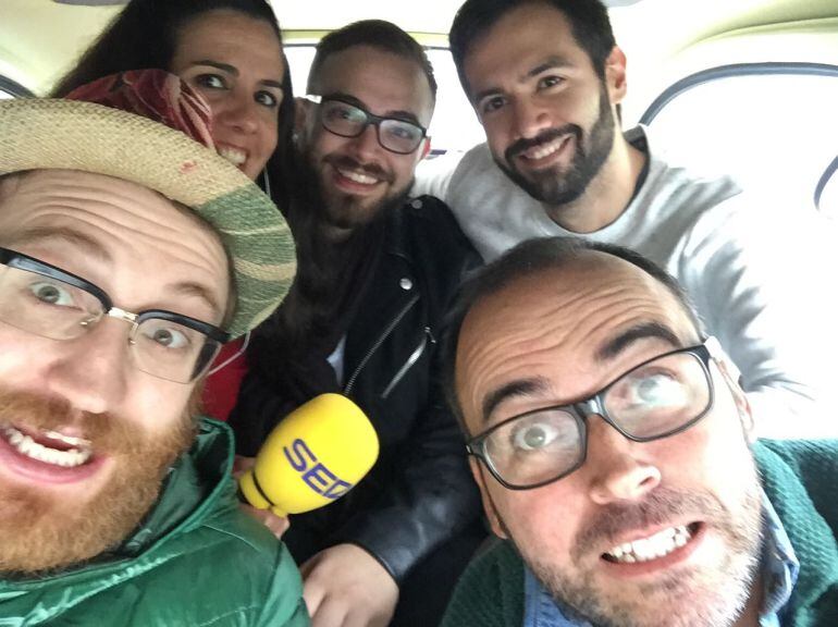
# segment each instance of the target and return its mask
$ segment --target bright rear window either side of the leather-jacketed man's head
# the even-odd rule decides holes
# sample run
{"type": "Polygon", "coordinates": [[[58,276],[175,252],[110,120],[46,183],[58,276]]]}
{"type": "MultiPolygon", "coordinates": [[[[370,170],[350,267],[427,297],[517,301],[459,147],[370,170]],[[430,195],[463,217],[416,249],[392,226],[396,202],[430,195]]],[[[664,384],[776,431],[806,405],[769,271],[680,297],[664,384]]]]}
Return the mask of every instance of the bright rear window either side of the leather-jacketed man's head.
{"type": "MultiPolygon", "coordinates": [[[[285,46],[285,56],[291,67],[294,95],[303,96],[308,82],[308,70],[315,59],[315,46],[288,44],[285,46]]],[[[428,49],[428,58],[433,65],[438,84],[436,109],[428,131],[431,136],[432,156],[464,152],[475,144],[483,142],[483,130],[459,85],[451,52],[432,48],[428,49]]]]}

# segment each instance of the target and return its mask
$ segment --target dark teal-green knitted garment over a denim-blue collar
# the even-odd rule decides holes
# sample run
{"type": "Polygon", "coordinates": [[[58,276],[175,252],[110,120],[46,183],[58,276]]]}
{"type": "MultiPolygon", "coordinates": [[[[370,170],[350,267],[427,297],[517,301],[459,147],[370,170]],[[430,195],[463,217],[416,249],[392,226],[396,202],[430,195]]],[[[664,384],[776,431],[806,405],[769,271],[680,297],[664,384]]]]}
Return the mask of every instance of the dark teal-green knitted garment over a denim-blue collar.
{"type": "MultiPolygon", "coordinates": [[[[800,561],[782,627],[838,627],[838,440],[755,444],[763,487],[800,561]]],[[[468,567],[442,627],[520,627],[523,563],[497,541],[468,567]]]]}

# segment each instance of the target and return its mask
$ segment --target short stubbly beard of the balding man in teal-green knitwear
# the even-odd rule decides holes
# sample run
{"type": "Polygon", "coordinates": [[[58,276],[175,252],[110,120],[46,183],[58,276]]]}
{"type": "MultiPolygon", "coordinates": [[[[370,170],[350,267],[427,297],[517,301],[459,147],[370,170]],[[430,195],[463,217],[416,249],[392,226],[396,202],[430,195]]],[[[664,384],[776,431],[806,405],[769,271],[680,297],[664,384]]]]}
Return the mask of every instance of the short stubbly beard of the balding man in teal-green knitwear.
{"type": "Polygon", "coordinates": [[[500,515],[498,520],[544,589],[597,627],[727,627],[750,599],[763,545],[762,493],[755,468],[753,472],[754,482],[737,512],[726,509],[710,493],[657,489],[642,503],[612,504],[597,513],[575,539],[570,564],[578,566],[592,545],[614,541],[626,530],[666,525],[685,512],[701,513],[725,541],[725,560],[714,571],[673,573],[653,583],[638,585],[630,601],[597,589],[591,570],[562,571],[535,544],[528,551],[526,543],[516,542],[500,515]]]}

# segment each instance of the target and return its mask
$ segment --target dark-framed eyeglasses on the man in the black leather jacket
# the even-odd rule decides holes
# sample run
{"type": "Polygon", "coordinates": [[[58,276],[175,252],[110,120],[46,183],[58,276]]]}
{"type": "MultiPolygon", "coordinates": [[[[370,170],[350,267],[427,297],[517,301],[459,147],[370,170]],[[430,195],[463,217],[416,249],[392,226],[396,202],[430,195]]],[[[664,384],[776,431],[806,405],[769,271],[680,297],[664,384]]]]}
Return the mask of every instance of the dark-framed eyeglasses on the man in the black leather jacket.
{"type": "Polygon", "coordinates": [[[340,98],[309,95],[306,100],[320,104],[320,123],[330,133],[341,137],[358,137],[367,126],[373,124],[379,144],[397,155],[409,155],[416,150],[428,134],[428,130],[419,124],[397,118],[382,118],[340,98]]]}

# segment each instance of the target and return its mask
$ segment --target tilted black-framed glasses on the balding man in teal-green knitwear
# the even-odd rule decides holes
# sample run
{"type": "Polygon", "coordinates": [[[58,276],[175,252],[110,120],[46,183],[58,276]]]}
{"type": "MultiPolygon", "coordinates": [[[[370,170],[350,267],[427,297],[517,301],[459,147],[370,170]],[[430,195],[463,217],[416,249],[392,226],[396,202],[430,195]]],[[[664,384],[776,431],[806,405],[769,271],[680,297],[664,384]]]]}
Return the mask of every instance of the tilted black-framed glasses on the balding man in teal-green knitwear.
{"type": "Polygon", "coordinates": [[[708,365],[720,355],[714,337],[658,355],[588,398],[508,418],[471,438],[466,448],[510,490],[545,485],[584,464],[589,416],[600,416],[634,442],[692,427],[713,406],[708,365]]]}

